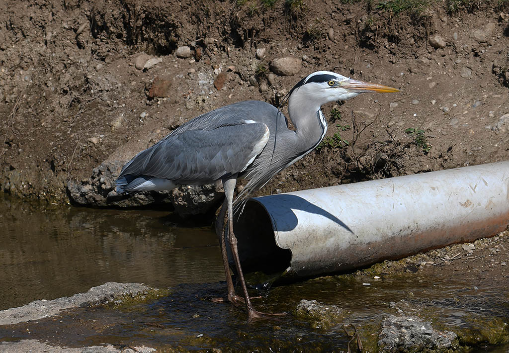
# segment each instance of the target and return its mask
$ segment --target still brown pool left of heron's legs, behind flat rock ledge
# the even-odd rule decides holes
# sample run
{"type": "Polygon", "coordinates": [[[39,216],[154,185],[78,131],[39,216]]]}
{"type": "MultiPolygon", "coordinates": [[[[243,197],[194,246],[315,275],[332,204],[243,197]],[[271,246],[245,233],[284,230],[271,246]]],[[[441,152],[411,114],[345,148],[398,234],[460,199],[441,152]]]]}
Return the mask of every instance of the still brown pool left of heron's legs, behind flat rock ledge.
{"type": "Polygon", "coordinates": [[[168,225],[168,212],[27,204],[0,198],[0,310],[105,282],[165,288],[224,280],[210,227],[168,225]]]}

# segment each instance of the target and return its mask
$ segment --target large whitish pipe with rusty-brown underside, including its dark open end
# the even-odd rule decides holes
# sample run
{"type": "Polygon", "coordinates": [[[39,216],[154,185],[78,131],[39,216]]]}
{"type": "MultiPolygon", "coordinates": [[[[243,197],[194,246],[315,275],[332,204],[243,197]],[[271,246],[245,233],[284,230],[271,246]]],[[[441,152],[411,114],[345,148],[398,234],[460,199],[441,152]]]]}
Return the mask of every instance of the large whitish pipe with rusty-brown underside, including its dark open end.
{"type": "Polygon", "coordinates": [[[325,275],[497,234],[509,161],[250,199],[235,224],[243,266],[325,275]]]}

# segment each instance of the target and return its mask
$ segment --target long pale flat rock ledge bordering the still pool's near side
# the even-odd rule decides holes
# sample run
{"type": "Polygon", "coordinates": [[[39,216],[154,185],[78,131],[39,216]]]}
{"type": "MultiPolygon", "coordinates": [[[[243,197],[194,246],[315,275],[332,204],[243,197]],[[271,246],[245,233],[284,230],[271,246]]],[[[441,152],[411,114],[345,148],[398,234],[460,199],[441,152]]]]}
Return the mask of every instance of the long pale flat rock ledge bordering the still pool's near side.
{"type": "MultiPolygon", "coordinates": [[[[54,300],[37,300],[22,307],[0,311],[0,325],[9,325],[43,317],[56,315],[62,309],[74,308],[82,305],[100,305],[114,302],[118,297],[147,294],[149,290],[157,290],[141,283],[107,282],[92,287],[86,293],[64,296],[54,300]]],[[[2,351],[0,349],[0,351],[2,351]]]]}

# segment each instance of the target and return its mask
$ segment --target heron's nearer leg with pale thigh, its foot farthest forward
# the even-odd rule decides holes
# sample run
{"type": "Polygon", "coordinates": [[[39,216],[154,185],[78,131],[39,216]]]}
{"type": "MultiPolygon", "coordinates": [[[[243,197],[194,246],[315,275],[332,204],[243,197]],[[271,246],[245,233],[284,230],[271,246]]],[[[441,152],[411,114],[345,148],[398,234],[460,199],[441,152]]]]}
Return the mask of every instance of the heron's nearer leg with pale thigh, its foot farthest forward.
{"type": "Polygon", "coordinates": [[[250,322],[253,319],[274,319],[280,315],[286,315],[286,313],[280,314],[266,314],[261,313],[254,310],[254,307],[251,304],[251,300],[249,298],[249,293],[247,292],[246,282],[244,280],[244,275],[242,274],[242,267],[240,265],[239,251],[237,248],[237,237],[233,232],[233,193],[235,190],[235,184],[237,183],[237,178],[231,177],[229,179],[223,179],[223,188],[224,194],[226,196],[225,202],[228,202],[228,240],[230,242],[230,247],[232,249],[233,258],[235,261],[235,267],[237,268],[237,273],[239,276],[240,284],[242,285],[242,290],[244,292],[244,298],[246,303],[247,310],[247,322],[250,322]]]}

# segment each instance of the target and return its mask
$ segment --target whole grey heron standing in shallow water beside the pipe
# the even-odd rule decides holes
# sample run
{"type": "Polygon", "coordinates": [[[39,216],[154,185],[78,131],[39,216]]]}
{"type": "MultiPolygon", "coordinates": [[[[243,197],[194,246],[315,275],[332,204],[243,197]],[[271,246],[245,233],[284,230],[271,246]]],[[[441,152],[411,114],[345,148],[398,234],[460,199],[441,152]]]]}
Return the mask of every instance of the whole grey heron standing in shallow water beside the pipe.
{"type": "MultiPolygon", "coordinates": [[[[274,175],[313,151],[327,131],[321,105],[347,100],[363,92],[398,89],[360,82],[330,71],[303,79],[283,99],[288,101],[288,128],[281,111],[263,101],[242,101],[217,108],[181,125],[154,146],[139,152],[122,169],[117,192],[169,190],[179,185],[222,182],[225,199],[215,228],[228,286],[228,300],[245,303],[248,321],[271,315],[254,310],[242,274],[233,231],[234,206],[265,185],[274,175]],[[237,178],[248,180],[234,200],[237,178]],[[228,212],[228,214],[227,214],[228,212]],[[228,219],[228,229],[223,229],[228,219]],[[235,294],[226,251],[228,239],[244,297],[235,294]]],[[[282,105],[281,104],[281,105],[282,105]]]]}

